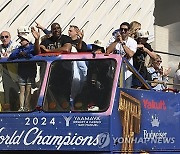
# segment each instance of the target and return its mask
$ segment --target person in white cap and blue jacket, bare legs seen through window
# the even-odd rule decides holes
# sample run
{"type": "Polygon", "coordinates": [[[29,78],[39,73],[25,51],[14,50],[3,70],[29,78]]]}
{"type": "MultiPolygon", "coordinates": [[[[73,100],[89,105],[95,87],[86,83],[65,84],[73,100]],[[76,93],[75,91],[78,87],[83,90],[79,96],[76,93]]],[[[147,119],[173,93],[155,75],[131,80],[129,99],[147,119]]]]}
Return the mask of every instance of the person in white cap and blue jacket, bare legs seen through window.
{"type": "MultiPolygon", "coordinates": [[[[14,49],[8,60],[14,59],[29,59],[34,53],[34,45],[31,43],[32,39],[30,33],[18,33],[21,46],[14,49]]],[[[18,64],[18,83],[20,87],[19,101],[20,108],[18,111],[31,110],[31,87],[35,84],[36,77],[36,63],[19,63],[18,64]]]]}

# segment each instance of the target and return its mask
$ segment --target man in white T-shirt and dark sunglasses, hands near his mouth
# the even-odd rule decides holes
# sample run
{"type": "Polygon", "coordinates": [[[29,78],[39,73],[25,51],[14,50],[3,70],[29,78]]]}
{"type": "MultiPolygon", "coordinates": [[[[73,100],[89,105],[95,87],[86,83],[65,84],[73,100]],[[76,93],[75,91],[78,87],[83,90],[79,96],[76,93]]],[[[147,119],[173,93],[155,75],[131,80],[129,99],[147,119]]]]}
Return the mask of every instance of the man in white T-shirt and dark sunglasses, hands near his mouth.
{"type": "MultiPolygon", "coordinates": [[[[130,64],[133,65],[133,55],[137,50],[137,42],[129,37],[130,25],[128,22],[123,22],[120,29],[111,37],[106,48],[106,54],[115,53],[126,57],[130,64]]],[[[125,72],[126,87],[132,86],[132,72],[125,72]]]]}

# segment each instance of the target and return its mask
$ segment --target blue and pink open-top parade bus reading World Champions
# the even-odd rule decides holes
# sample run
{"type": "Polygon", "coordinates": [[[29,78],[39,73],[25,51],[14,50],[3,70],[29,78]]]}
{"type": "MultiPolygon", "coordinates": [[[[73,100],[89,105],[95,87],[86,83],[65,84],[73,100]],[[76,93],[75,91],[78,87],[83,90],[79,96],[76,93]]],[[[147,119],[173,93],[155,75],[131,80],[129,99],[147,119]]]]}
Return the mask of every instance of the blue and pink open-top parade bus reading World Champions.
{"type": "Polygon", "coordinates": [[[180,152],[180,93],[153,90],[120,55],[48,53],[0,66],[1,153],[180,152]],[[29,102],[20,65],[35,74],[29,102]],[[143,88],[125,87],[126,69],[143,88]]]}

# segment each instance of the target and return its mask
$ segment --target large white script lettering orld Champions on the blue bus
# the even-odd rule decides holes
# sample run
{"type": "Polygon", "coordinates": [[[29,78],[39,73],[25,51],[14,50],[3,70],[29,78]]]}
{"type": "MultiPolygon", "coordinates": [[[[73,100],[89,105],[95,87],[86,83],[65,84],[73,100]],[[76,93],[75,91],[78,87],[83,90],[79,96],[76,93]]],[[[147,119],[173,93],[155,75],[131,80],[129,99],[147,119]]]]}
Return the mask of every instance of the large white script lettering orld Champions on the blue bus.
{"type": "Polygon", "coordinates": [[[82,136],[75,133],[74,135],[45,135],[43,130],[33,127],[27,132],[25,130],[18,132],[15,130],[12,134],[1,135],[6,131],[5,127],[0,128],[0,144],[19,145],[22,141],[26,146],[30,145],[54,145],[57,150],[62,146],[96,146],[99,144],[99,135],[82,136]]]}

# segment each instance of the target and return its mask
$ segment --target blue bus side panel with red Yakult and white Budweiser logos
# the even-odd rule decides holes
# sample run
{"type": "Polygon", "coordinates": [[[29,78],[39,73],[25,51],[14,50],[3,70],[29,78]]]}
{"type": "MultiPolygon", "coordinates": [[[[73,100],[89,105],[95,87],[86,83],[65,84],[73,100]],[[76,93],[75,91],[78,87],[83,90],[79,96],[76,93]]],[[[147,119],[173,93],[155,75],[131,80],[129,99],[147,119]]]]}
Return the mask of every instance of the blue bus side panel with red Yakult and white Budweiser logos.
{"type": "MultiPolygon", "coordinates": [[[[130,147],[133,151],[180,151],[179,100],[180,94],[171,92],[117,90],[112,118],[114,150],[130,147]],[[140,102],[140,119],[132,107],[131,111],[126,110],[126,107],[123,111],[117,110],[122,103],[122,92],[140,102]]],[[[127,106],[128,101],[125,101],[127,106]]]]}

